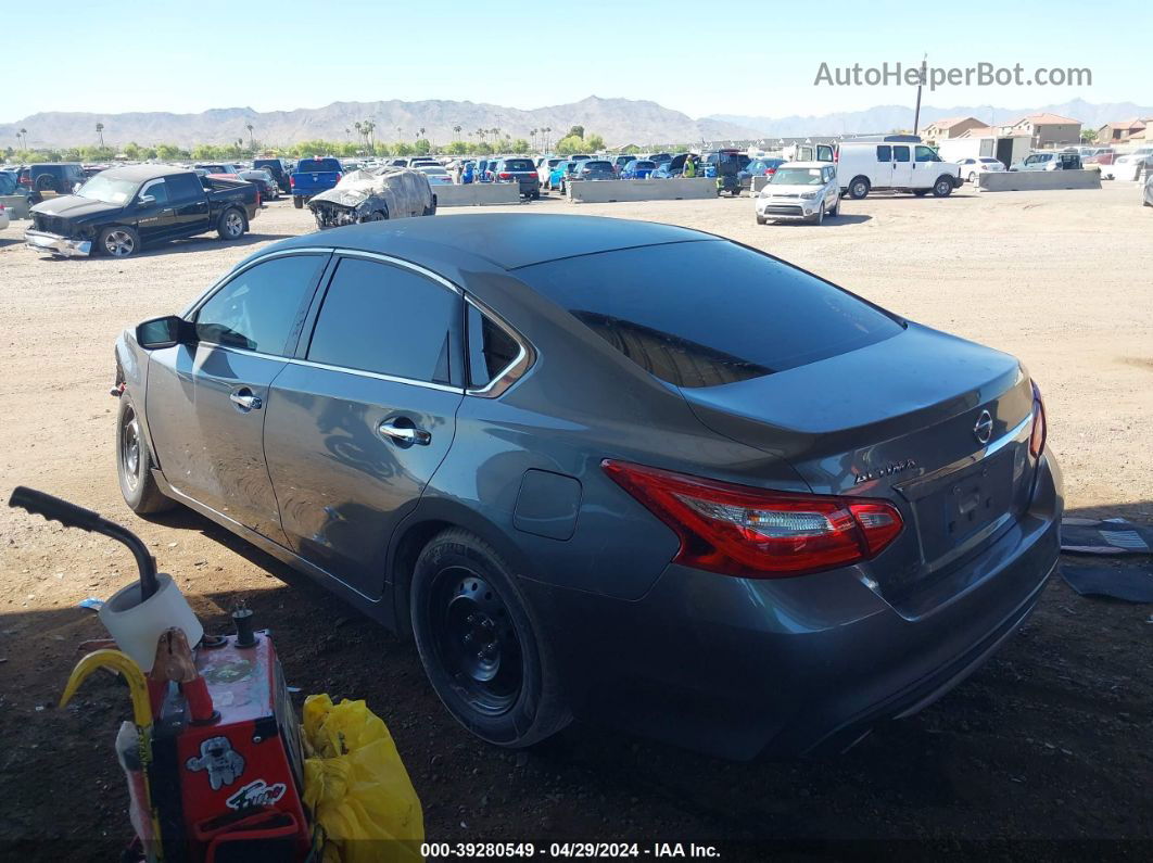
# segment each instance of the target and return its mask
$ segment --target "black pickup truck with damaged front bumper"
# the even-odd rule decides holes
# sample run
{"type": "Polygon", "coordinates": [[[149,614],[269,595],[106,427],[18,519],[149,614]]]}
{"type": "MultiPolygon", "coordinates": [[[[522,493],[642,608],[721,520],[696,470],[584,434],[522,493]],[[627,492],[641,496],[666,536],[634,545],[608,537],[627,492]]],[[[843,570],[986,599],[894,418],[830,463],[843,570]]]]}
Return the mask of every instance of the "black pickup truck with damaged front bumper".
{"type": "Polygon", "coordinates": [[[199,177],[171,165],[110,168],[75,195],[32,207],[24,242],[62,257],[127,257],[165,240],[216,230],[239,240],[256,218],[259,192],[251,183],[199,177]]]}

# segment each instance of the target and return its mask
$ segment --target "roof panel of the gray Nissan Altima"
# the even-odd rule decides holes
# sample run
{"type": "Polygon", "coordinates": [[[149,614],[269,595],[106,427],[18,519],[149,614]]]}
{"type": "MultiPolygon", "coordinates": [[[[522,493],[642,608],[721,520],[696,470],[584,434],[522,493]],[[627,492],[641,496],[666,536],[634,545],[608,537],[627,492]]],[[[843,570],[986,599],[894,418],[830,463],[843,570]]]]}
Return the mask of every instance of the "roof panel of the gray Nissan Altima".
{"type": "Polygon", "coordinates": [[[715,239],[672,225],[596,215],[467,213],[348,225],[319,237],[284,240],[261,255],[321,244],[392,255],[434,271],[438,263],[460,263],[461,253],[515,270],[617,249],[715,239]]]}

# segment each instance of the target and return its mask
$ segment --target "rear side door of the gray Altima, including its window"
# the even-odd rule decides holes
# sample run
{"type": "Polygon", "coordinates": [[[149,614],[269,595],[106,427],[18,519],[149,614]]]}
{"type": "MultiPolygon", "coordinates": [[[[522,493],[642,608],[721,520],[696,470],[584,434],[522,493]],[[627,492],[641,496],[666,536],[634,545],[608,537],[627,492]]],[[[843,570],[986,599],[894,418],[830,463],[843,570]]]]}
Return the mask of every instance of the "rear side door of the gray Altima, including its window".
{"type": "Polygon", "coordinates": [[[288,540],[368,597],[383,592],[392,532],[452,445],[461,303],[430,273],[346,253],[272,387],[265,452],[288,540]]]}

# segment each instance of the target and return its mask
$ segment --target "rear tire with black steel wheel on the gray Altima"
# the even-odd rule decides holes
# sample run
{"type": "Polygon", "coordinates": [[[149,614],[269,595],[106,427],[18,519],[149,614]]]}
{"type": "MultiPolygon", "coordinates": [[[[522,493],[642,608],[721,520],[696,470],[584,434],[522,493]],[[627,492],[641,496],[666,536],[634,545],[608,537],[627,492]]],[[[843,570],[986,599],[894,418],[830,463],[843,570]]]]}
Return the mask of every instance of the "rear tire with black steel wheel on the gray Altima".
{"type": "Polygon", "coordinates": [[[416,560],[409,597],[429,682],[465,728],[520,749],[568,725],[543,627],[492,546],[458,528],[438,533],[416,560]]]}

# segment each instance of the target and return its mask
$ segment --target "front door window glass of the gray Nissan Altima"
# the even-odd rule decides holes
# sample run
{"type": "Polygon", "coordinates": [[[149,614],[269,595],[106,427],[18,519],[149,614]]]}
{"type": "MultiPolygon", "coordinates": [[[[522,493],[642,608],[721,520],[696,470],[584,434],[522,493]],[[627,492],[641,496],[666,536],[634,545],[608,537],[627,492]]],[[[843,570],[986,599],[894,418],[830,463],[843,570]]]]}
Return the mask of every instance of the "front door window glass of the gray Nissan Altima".
{"type": "Polygon", "coordinates": [[[287,355],[295,346],[323,265],[318,255],[296,255],[246,270],[201,306],[197,336],[233,348],[287,355]]]}

